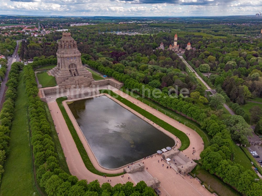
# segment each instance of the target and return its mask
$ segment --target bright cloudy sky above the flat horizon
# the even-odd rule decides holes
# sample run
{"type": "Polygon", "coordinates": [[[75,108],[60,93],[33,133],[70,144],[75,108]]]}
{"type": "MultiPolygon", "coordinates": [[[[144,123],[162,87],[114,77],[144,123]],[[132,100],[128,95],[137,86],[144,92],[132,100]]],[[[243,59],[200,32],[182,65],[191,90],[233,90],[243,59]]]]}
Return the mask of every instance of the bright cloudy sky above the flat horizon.
{"type": "Polygon", "coordinates": [[[0,14],[65,16],[255,15],[261,0],[0,0],[0,14]]]}

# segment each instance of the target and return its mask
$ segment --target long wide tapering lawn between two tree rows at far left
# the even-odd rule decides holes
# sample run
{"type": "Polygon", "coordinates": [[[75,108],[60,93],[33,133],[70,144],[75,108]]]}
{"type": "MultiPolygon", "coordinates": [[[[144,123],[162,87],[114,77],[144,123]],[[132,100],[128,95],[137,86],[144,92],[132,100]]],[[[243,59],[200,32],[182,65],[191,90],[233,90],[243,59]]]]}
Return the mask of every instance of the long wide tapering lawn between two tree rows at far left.
{"type": "Polygon", "coordinates": [[[27,98],[20,72],[18,94],[15,101],[14,120],[10,132],[10,153],[4,163],[0,195],[38,195],[34,187],[33,168],[29,142],[27,98]]]}

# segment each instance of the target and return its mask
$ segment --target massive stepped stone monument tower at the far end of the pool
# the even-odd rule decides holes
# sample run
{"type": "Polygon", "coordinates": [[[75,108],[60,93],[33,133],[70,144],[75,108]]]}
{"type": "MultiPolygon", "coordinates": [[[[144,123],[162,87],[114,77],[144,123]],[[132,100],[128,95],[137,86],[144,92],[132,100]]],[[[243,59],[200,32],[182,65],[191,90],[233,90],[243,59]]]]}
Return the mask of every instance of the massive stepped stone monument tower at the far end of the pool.
{"type": "Polygon", "coordinates": [[[94,81],[91,72],[82,66],[81,53],[71,33],[63,33],[58,43],[57,66],[50,70],[59,87],[75,88],[90,86],[94,81]]]}

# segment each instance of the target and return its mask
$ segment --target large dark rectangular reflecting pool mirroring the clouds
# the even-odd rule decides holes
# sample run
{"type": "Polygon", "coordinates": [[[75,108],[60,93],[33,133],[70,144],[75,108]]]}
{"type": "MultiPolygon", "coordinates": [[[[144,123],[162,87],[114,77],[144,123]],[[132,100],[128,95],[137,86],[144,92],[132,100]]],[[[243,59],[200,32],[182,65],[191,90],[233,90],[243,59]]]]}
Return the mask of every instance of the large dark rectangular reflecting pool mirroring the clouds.
{"type": "Polygon", "coordinates": [[[122,167],[175,142],[107,96],[68,105],[99,164],[122,167]]]}

